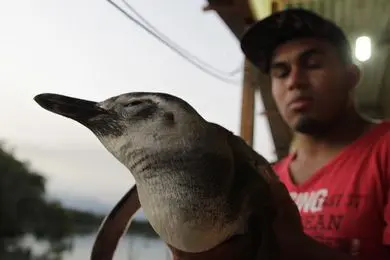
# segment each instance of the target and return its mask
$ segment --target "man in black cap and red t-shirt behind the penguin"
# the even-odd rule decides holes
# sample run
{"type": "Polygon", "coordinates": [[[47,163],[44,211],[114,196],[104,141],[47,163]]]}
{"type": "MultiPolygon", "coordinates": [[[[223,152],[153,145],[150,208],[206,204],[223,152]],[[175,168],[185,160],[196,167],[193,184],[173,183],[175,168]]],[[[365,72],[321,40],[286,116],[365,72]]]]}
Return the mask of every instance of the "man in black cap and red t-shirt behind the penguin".
{"type": "Polygon", "coordinates": [[[287,9],[250,27],[241,47],[270,76],[299,143],[274,165],[304,231],[294,207],[276,221],[288,259],[390,259],[390,123],[356,111],[360,72],[344,33],[312,12],[287,9]]]}

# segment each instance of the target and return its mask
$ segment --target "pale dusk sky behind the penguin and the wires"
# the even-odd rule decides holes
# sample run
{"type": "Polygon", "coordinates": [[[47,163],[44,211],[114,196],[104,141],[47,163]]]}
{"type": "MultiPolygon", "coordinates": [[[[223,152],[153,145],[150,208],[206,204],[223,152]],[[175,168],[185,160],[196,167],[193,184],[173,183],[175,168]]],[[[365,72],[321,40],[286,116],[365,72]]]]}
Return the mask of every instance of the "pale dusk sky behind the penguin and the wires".
{"type": "MultiPolygon", "coordinates": [[[[237,39],[216,13],[202,10],[206,1],[129,3],[213,67],[229,72],[242,65],[237,39]]],[[[134,181],[88,129],[39,107],[33,101],[39,93],[99,101],[132,91],[166,92],[239,134],[242,74],[232,77],[235,84],[205,74],[106,0],[1,1],[0,31],[0,139],[46,176],[48,192],[68,205],[92,201],[88,209],[98,203],[111,208],[134,181]]],[[[255,149],[275,159],[260,115],[255,149]]]]}

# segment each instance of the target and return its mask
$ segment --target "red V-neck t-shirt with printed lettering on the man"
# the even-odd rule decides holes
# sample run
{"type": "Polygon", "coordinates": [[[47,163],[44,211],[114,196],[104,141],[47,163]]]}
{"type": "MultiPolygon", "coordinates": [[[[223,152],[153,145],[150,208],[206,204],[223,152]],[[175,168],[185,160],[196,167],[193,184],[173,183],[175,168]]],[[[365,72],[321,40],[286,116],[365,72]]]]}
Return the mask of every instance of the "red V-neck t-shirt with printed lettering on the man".
{"type": "Polygon", "coordinates": [[[390,122],[372,128],[300,185],[290,178],[292,157],[274,170],[298,206],[305,233],[359,260],[389,260],[390,122]]]}

